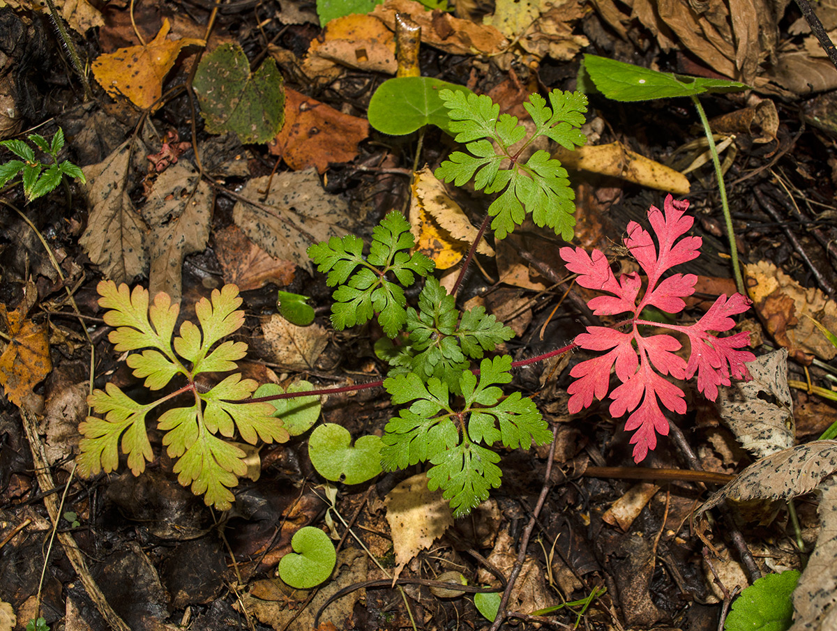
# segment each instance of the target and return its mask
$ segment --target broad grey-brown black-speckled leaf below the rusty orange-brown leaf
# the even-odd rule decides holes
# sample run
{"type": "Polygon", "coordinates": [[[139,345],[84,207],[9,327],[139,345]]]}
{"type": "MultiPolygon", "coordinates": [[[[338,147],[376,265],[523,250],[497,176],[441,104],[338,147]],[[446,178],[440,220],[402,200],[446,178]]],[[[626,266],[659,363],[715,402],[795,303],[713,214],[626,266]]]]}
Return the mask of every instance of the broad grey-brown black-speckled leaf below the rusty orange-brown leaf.
{"type": "Polygon", "coordinates": [[[241,231],[275,259],[293,261],[313,273],[308,258],[309,246],[343,237],[352,229],[346,201],[326,193],[316,169],[282,172],[273,177],[270,193],[264,190],[270,177],[254,177],[241,194],[265,208],[239,202],[233,209],[233,221],[241,231]]]}

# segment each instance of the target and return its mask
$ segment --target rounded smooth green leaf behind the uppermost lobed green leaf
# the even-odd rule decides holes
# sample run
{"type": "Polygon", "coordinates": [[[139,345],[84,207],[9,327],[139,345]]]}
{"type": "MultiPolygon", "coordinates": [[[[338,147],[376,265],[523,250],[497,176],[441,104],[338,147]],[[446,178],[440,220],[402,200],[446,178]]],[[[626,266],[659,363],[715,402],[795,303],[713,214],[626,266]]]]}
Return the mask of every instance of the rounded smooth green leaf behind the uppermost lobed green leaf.
{"type": "Polygon", "coordinates": [[[432,77],[396,77],[383,82],[369,101],[369,124],[390,136],[403,136],[425,125],[441,127],[450,136],[448,110],[439,99],[439,90],[460,90],[456,85],[432,77]]]}

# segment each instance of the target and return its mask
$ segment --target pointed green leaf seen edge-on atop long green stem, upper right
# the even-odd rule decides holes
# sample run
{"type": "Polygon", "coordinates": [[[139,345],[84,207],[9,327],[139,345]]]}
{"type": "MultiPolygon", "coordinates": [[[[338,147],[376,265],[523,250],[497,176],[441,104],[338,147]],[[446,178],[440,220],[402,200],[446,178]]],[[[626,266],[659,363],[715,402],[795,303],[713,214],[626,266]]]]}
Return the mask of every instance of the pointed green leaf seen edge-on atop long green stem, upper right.
{"type": "Polygon", "coordinates": [[[737,92],[749,87],[726,79],[660,72],[595,54],[584,55],[583,69],[599,92],[608,99],[621,101],[666,99],[704,92],[737,92]]]}

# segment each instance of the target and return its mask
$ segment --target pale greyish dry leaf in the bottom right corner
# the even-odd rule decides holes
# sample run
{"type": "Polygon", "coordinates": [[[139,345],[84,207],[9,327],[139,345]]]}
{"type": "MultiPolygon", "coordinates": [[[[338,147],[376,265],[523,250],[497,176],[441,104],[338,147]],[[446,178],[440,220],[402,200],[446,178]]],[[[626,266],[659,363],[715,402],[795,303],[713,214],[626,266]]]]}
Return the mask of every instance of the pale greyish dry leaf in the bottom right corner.
{"type": "Polygon", "coordinates": [[[837,480],[820,489],[819,536],[814,552],[793,592],[790,631],[831,631],[837,628],[837,480]]]}

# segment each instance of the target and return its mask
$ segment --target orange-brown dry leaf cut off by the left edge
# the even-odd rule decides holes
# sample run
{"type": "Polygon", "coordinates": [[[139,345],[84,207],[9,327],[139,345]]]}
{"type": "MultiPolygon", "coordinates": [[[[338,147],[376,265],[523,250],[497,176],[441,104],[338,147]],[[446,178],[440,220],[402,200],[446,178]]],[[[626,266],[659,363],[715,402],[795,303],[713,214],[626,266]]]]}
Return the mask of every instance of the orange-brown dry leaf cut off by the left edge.
{"type": "Polygon", "coordinates": [[[26,297],[17,309],[9,312],[6,305],[0,303],[0,323],[10,338],[0,355],[0,385],[6,390],[6,398],[18,406],[52,371],[48,326],[46,322],[36,324],[26,318],[37,298],[35,285],[29,282],[26,297]]]}

